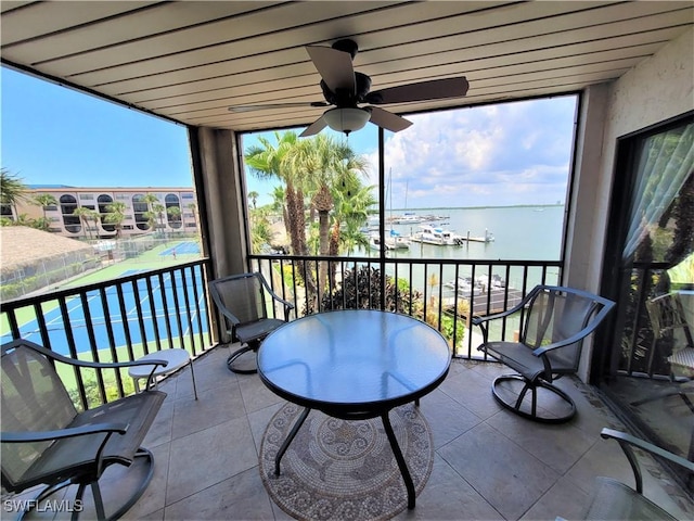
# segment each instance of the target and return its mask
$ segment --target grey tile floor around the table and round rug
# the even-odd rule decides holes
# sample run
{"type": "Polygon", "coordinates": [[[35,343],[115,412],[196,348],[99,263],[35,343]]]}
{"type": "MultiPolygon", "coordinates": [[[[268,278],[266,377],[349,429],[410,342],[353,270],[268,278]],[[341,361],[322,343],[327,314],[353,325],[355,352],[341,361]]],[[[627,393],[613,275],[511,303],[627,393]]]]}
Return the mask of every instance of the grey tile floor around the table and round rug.
{"type": "MultiPolygon", "coordinates": [[[[144,443],[155,476],[125,519],[291,519],[266,493],[257,457],[282,401],[257,376],[231,373],[228,353],[220,346],[195,360],[197,402],[189,369],[159,385],[168,396],[144,443]]],[[[631,484],[618,445],[600,437],[603,427],[624,427],[587,386],[562,380],[579,412],[569,423],[542,425],[494,402],[490,383],[501,370],[454,360],[446,381],[422,398],[434,469],[416,508],[397,520],[570,520],[584,511],[595,475],[631,484]]],[[[694,505],[667,473],[653,460],[646,467],[646,496],[679,519],[694,519],[694,505]]]]}

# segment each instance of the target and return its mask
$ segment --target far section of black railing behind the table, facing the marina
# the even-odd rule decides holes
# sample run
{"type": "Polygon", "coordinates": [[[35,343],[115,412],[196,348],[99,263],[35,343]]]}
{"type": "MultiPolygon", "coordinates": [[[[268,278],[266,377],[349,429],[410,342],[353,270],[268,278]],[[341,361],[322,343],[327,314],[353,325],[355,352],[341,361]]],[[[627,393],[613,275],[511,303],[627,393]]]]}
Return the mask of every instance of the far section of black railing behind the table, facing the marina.
{"type": "MultiPolygon", "coordinates": [[[[297,317],[347,307],[397,308],[437,328],[454,355],[465,358],[476,353],[473,336],[465,334],[473,315],[514,306],[536,284],[558,283],[562,269],[558,260],[252,255],[248,263],[275,293],[294,303],[297,317]],[[327,282],[307,291],[306,280],[316,280],[323,263],[327,282]]],[[[501,333],[506,335],[505,328],[501,333]]]]}

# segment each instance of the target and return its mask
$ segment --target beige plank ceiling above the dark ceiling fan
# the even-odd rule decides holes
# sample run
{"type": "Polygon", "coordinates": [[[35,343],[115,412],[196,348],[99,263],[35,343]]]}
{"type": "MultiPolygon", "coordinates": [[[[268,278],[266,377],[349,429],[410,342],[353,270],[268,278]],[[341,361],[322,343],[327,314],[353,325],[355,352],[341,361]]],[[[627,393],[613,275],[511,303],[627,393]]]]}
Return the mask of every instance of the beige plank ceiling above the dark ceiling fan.
{"type": "Polygon", "coordinates": [[[194,126],[303,126],[325,109],[305,46],[359,45],[372,90],[464,75],[464,99],[399,114],[609,81],[694,24],[687,1],[2,1],[2,63],[194,126]]]}

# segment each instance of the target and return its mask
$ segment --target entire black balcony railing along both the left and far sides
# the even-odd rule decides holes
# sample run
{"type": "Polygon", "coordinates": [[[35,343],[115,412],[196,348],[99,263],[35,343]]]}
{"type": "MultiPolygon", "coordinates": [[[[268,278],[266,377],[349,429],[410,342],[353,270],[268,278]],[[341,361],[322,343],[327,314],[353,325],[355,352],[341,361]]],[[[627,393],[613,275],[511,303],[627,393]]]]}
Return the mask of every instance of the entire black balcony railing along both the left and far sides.
{"type": "MultiPolygon", "coordinates": [[[[213,333],[208,265],[207,259],[197,260],[3,302],[2,343],[24,338],[66,356],[98,361],[133,360],[171,347],[198,355],[219,338],[213,333]]],[[[273,290],[295,304],[297,317],[354,307],[356,302],[359,307],[397,308],[440,330],[455,346],[455,356],[473,358],[476,343],[465,333],[470,312],[486,315],[513,306],[537,283],[558,282],[562,264],[253,255],[248,268],[262,271],[273,290]],[[316,280],[322,263],[330,282],[314,288],[311,296],[306,281],[311,274],[316,280]]],[[[83,369],[63,378],[74,399],[87,408],[133,389],[125,370],[83,369]]]]}

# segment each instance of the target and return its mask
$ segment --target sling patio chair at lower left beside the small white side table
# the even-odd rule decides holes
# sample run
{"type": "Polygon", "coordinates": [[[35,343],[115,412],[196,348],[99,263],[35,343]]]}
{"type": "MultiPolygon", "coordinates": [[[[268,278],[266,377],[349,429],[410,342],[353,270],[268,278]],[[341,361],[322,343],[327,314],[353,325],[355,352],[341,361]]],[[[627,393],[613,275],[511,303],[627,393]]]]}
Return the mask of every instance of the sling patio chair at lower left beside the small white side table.
{"type": "Polygon", "coordinates": [[[146,391],[79,412],[56,371],[57,363],[73,370],[139,364],[76,360],[26,340],[3,344],[2,486],[10,493],[21,493],[46,485],[35,500],[24,503],[28,511],[64,487],[77,485],[69,504],[75,520],[82,510],[80,505],[83,507],[85,488],[90,485],[97,518],[117,519],[134,505],[152,480],[152,453],[140,444],[166,394],[146,391]],[[127,467],[127,475],[137,480],[123,480],[132,483],[134,492],[110,505],[107,516],[99,480],[114,463],[127,467]]]}

